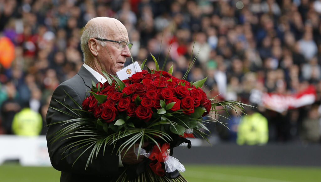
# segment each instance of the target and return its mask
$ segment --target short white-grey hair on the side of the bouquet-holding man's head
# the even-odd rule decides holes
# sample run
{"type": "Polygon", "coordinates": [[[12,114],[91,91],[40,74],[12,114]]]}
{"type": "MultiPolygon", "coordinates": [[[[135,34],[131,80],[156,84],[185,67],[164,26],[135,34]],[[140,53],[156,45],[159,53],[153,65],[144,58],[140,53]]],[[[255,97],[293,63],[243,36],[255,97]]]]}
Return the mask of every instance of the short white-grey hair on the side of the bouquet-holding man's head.
{"type": "MultiPolygon", "coordinates": [[[[86,59],[91,58],[91,53],[88,47],[88,41],[90,38],[106,38],[109,36],[106,26],[103,23],[91,23],[86,25],[82,32],[82,36],[80,38],[80,46],[82,50],[82,54],[85,61],[86,59]]],[[[98,41],[101,46],[105,46],[106,42],[98,41]]]]}

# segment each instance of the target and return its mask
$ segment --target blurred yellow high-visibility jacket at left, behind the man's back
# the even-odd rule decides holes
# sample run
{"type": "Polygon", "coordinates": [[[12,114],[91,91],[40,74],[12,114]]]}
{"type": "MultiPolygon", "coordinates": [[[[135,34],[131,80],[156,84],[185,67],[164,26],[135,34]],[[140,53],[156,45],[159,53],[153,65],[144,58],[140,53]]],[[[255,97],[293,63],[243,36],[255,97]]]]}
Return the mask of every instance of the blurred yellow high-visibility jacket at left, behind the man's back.
{"type": "Polygon", "coordinates": [[[30,108],[23,108],[13,117],[12,131],[16,135],[37,136],[41,129],[41,115],[30,108]]]}

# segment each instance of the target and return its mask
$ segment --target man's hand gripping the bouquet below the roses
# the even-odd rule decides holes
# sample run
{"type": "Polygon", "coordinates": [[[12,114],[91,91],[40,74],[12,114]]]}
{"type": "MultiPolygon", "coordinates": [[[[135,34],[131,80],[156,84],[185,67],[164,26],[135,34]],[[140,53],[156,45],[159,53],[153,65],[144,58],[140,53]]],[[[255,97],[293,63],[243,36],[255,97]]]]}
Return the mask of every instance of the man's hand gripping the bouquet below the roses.
{"type": "MultiPolygon", "coordinates": [[[[146,147],[148,145],[148,142],[144,142],[142,145],[143,147],[146,147]]],[[[129,150],[126,152],[127,149],[124,149],[121,153],[120,153],[120,157],[122,160],[123,164],[137,164],[139,162],[142,162],[144,158],[146,158],[143,155],[140,155],[137,159],[137,155],[134,153],[134,148],[138,148],[139,144],[135,144],[134,146],[130,147],[129,150]],[[125,154],[126,153],[126,154],[125,154]]]]}

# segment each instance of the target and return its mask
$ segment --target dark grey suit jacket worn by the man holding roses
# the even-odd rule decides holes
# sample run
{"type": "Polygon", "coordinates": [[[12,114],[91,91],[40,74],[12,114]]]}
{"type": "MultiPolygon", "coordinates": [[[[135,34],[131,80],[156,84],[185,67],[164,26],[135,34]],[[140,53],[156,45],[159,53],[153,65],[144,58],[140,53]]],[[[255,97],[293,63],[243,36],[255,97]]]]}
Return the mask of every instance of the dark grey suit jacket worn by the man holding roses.
{"type": "MultiPolygon", "coordinates": [[[[87,92],[90,91],[91,88],[91,80],[94,82],[98,82],[97,79],[85,68],[81,67],[79,72],[72,77],[71,79],[61,83],[56,90],[54,91],[50,106],[58,109],[65,110],[66,109],[60,105],[55,99],[59,101],[64,101],[76,108],[76,105],[73,103],[71,99],[66,97],[64,91],[69,93],[79,104],[82,104],[82,101],[85,99],[87,92]]],[[[57,112],[54,109],[49,108],[47,113],[47,124],[57,122],[57,121],[65,121],[68,119],[72,119],[70,116],[65,115],[61,112],[57,112]]],[[[89,150],[87,150],[82,156],[77,160],[74,164],[76,158],[84,152],[85,148],[81,148],[78,151],[70,154],[74,150],[79,147],[74,147],[73,149],[67,151],[62,154],[64,150],[61,150],[64,146],[74,142],[75,140],[79,140],[79,137],[69,138],[61,141],[61,139],[57,140],[54,143],[48,142],[50,139],[50,135],[62,129],[60,124],[53,124],[48,127],[47,132],[47,143],[48,143],[48,152],[51,160],[52,166],[61,171],[61,182],[82,182],[82,181],[109,181],[111,176],[117,176],[118,174],[118,155],[115,152],[112,154],[112,149],[107,148],[105,151],[105,155],[101,153],[97,157],[97,159],[93,159],[91,164],[85,170],[86,162],[89,156],[89,150]],[[65,157],[67,154],[67,157],[65,157]],[[65,158],[64,158],[65,157],[65,158]],[[64,158],[64,159],[62,159],[64,158]]]]}

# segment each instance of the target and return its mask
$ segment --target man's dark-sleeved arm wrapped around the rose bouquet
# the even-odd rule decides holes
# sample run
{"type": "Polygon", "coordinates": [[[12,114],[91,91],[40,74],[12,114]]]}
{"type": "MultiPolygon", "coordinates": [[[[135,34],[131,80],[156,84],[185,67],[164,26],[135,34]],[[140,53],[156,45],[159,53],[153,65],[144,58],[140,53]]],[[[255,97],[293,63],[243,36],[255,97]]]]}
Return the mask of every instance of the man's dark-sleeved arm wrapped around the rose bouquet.
{"type": "MultiPolygon", "coordinates": [[[[57,109],[61,109],[63,111],[68,112],[68,110],[65,107],[63,107],[61,104],[59,104],[56,101],[56,100],[59,100],[63,103],[66,102],[71,107],[77,108],[74,102],[68,96],[66,96],[65,91],[69,93],[69,95],[73,99],[75,99],[78,103],[80,104],[82,103],[82,100],[84,98],[81,98],[81,96],[79,96],[79,94],[77,93],[77,91],[74,90],[74,88],[72,88],[67,84],[61,84],[57,87],[57,89],[54,91],[52,95],[50,107],[55,107],[57,109]]],[[[58,122],[58,121],[65,121],[68,119],[72,119],[72,117],[69,115],[63,114],[61,112],[58,112],[52,108],[48,109],[47,124],[58,122]]],[[[80,139],[83,139],[83,138],[74,137],[74,138],[65,139],[67,137],[64,137],[64,138],[60,138],[54,143],[50,143],[49,142],[49,140],[51,139],[50,135],[61,130],[64,127],[65,125],[61,126],[61,124],[53,124],[48,127],[48,132],[47,132],[49,156],[50,156],[51,164],[56,170],[72,172],[72,173],[82,173],[82,174],[88,174],[88,175],[90,174],[116,175],[118,173],[117,150],[114,151],[114,153],[112,153],[113,149],[111,147],[109,148],[107,147],[104,155],[101,149],[97,158],[96,159],[94,158],[92,162],[89,164],[89,166],[87,167],[87,169],[85,170],[85,166],[92,148],[89,148],[87,151],[85,151],[87,147],[80,148],[79,146],[76,146],[76,147],[73,147],[72,149],[69,149],[65,153],[63,153],[63,151],[66,149],[66,148],[63,149],[63,147],[75,141],[79,141],[80,139]],[[62,139],[65,139],[65,140],[62,140],[62,139]],[[80,154],[82,155],[81,157],[78,158],[80,154]],[[78,160],[77,162],[75,162],[77,158],[78,160]],[[75,164],[73,165],[74,162],[75,164]]],[[[70,137],[70,135],[68,137],[70,137]]]]}

